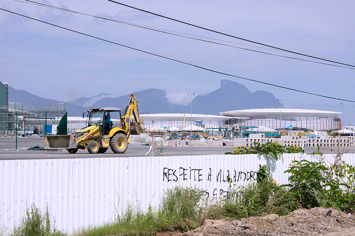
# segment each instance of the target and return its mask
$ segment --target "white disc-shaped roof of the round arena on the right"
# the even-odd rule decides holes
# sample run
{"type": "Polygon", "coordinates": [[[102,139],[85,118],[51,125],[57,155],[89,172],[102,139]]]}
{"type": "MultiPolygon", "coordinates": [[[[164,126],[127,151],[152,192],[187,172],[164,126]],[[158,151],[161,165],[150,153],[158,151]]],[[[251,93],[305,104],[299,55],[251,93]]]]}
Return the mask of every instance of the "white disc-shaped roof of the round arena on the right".
{"type": "MultiPolygon", "coordinates": [[[[280,108],[262,108],[262,109],[247,109],[220,112],[219,114],[226,117],[280,117],[280,108]]],[[[327,117],[335,118],[340,116],[341,112],[332,111],[317,111],[309,109],[293,109],[282,108],[281,115],[283,117],[327,117]]]]}

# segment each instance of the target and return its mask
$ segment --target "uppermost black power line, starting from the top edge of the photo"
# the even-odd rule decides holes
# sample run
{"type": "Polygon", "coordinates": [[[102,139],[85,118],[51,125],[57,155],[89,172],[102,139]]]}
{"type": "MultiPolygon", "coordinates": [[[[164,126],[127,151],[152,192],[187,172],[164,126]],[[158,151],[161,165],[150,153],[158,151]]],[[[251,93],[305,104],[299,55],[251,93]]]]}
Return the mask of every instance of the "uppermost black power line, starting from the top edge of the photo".
{"type": "MultiPolygon", "coordinates": [[[[267,46],[267,47],[272,47],[272,48],[274,48],[274,49],[279,49],[279,50],[282,50],[282,51],[291,52],[291,53],[298,54],[298,55],[302,55],[302,56],[306,56],[306,57],[316,58],[316,59],[318,59],[318,60],[323,60],[323,61],[329,61],[329,62],[333,62],[333,63],[343,64],[343,65],[345,65],[345,66],[352,66],[352,65],[349,65],[349,64],[341,63],[341,62],[336,62],[336,61],[331,61],[331,60],[323,59],[323,58],[321,58],[321,57],[314,57],[314,56],[310,56],[310,55],[306,55],[306,54],[301,54],[301,53],[299,53],[299,52],[294,52],[294,51],[290,51],[290,50],[286,50],[286,49],[281,49],[281,48],[279,48],[279,47],[270,46],[270,45],[267,45],[267,44],[257,43],[257,42],[255,42],[255,41],[251,41],[251,40],[248,40],[248,39],[239,38],[239,37],[236,37],[236,36],[233,36],[233,35],[230,35],[230,34],[221,33],[221,32],[218,32],[218,31],[215,31],[215,30],[212,30],[212,29],[207,29],[207,28],[204,28],[204,27],[201,27],[201,26],[196,26],[195,24],[190,24],[190,23],[187,23],[187,22],[184,22],[184,21],[179,21],[179,20],[177,20],[177,19],[173,19],[173,18],[170,18],[170,17],[162,16],[162,15],[159,15],[159,14],[157,14],[157,13],[153,13],[153,12],[150,12],[150,11],[145,11],[145,10],[139,9],[139,8],[137,8],[137,7],[132,7],[132,6],[129,6],[129,5],[120,3],[120,2],[113,1],[113,0],[107,0],[107,1],[114,2],[114,3],[120,4],[120,5],[122,5],[122,6],[130,7],[130,8],[136,9],[136,10],[138,10],[138,11],[143,11],[143,12],[146,12],[146,13],[149,13],[149,14],[153,14],[153,15],[155,15],[155,16],[164,17],[164,18],[170,19],[170,20],[172,20],[172,21],[177,21],[177,22],[180,22],[180,23],[183,23],[183,24],[187,24],[187,25],[189,25],[189,26],[197,27],[197,28],[200,28],[200,29],[205,29],[205,30],[208,30],[208,31],[217,33],[217,34],[223,34],[223,35],[226,35],[226,36],[229,36],[229,37],[233,37],[233,38],[236,38],[236,39],[248,41],[248,42],[251,42],[251,43],[260,44],[260,45],[267,46]]],[[[355,66],[352,66],[352,67],[355,67],[355,66]]]]}

